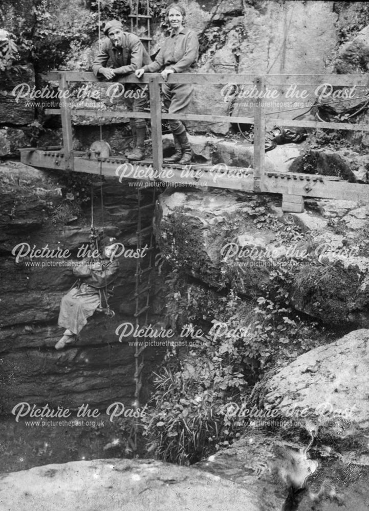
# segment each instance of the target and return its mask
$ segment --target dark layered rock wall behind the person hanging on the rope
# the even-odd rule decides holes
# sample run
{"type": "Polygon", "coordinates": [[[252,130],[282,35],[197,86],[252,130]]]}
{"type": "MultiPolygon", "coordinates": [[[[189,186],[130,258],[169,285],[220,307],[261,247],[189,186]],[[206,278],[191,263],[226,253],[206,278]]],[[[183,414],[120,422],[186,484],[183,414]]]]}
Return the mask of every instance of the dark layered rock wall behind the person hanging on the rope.
{"type": "MultiPolygon", "coordinates": [[[[122,322],[135,322],[136,259],[124,255],[119,258],[120,273],[110,300],[115,318],[95,313],[77,343],[57,352],[54,345],[62,334],[57,326],[60,299],[76,281],[70,263],[76,260],[78,248],[88,242],[90,233],[91,211],[78,205],[83,206],[80,199],[89,197],[90,184],[80,176],[74,181],[70,176],[68,182],[62,173],[11,162],[0,171],[1,408],[9,413],[19,401],[71,409],[83,402],[102,407],[115,398],[131,401],[134,347],[128,345],[131,337],[119,342],[115,330],[122,322]],[[32,248],[46,246],[59,250],[59,255],[68,249],[69,257],[30,258],[32,248]]],[[[99,187],[94,189],[95,226],[101,228],[99,187]]],[[[151,193],[144,192],[143,200],[150,202],[151,193]]],[[[129,254],[126,250],[136,246],[136,192],[107,180],[103,198],[105,235],[116,236],[124,245],[124,253],[129,254]]],[[[149,209],[145,210],[143,226],[150,225],[151,215],[149,209]]],[[[147,265],[144,260],[142,264],[147,265]]],[[[154,281],[153,297],[160,286],[160,280],[154,281]]],[[[151,321],[155,322],[161,312],[155,300],[152,311],[151,321]]],[[[147,360],[155,357],[156,352],[151,351],[147,360]]]]}

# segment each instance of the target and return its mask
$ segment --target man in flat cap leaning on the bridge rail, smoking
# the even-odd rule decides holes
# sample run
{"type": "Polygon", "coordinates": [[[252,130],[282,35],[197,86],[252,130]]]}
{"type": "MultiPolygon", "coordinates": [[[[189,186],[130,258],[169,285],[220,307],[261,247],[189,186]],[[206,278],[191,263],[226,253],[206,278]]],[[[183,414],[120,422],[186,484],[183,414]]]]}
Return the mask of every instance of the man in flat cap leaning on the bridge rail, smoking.
{"type": "MultiPolygon", "coordinates": [[[[92,71],[96,77],[103,76],[111,80],[115,76],[133,73],[142,65],[148,65],[151,62],[149,54],[137,35],[124,32],[121,22],[117,19],[107,21],[104,34],[107,39],[103,42],[100,53],[92,64],[92,71]],[[106,67],[109,61],[113,67],[106,67]]],[[[124,98],[129,111],[143,112],[145,108],[148,108],[147,85],[127,83],[124,84],[124,90],[134,91],[131,95],[133,98],[124,98]]],[[[134,149],[126,153],[126,156],[131,160],[141,160],[145,157],[146,121],[131,118],[129,124],[134,138],[134,149]]]]}

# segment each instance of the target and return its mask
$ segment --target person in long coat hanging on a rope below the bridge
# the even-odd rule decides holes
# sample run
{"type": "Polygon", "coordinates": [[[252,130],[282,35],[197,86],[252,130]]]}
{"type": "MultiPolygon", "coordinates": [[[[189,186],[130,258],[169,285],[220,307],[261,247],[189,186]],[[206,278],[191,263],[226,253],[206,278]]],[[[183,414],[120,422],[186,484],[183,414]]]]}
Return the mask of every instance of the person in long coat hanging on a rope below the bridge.
{"type": "Polygon", "coordinates": [[[108,307],[107,295],[119,271],[119,263],[114,260],[116,248],[115,238],[105,237],[100,242],[100,250],[92,239],[93,257],[83,259],[74,266],[73,275],[78,277],[78,281],[61,299],[58,325],[66,330],[55,344],[56,350],[75,342],[87,319],[97,309],[104,305],[108,307]],[[105,304],[102,303],[103,299],[105,304]]]}

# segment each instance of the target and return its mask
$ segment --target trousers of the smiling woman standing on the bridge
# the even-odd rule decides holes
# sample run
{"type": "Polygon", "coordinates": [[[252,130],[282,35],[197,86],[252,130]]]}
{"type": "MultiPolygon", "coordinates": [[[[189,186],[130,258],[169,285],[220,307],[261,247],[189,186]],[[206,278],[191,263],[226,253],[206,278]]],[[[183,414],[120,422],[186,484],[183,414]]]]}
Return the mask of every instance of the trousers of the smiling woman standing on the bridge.
{"type": "MultiPolygon", "coordinates": [[[[181,113],[191,102],[193,85],[190,83],[164,83],[162,85],[164,106],[168,113],[181,113]]],[[[180,135],[185,131],[181,121],[169,120],[173,134],[180,135]]]]}

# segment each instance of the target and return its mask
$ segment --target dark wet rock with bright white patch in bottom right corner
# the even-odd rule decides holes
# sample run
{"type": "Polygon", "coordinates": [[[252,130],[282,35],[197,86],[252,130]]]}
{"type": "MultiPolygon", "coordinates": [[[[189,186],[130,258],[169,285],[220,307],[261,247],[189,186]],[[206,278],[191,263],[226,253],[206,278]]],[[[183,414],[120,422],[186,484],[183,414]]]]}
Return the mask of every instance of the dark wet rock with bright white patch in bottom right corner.
{"type": "MultiPolygon", "coordinates": [[[[314,511],[317,506],[321,511],[340,511],[342,506],[365,511],[368,491],[363,481],[368,481],[369,470],[367,456],[361,454],[359,445],[353,450],[350,443],[344,446],[343,439],[337,447],[337,437],[332,442],[324,437],[316,438],[308,449],[311,437],[306,431],[304,436],[303,426],[300,430],[289,426],[293,422],[293,419],[251,421],[242,439],[197,463],[196,467],[241,487],[258,488],[261,484],[260,504],[266,508],[272,502],[278,509],[290,509],[294,495],[298,509],[304,511],[314,511]],[[261,426],[252,426],[253,422],[261,426]],[[273,424],[273,434],[269,435],[268,422],[273,424]],[[303,482],[303,489],[295,490],[294,494],[292,481],[295,487],[303,482]]],[[[365,447],[361,449],[365,452],[365,447]]]]}

